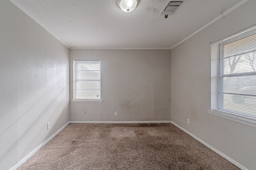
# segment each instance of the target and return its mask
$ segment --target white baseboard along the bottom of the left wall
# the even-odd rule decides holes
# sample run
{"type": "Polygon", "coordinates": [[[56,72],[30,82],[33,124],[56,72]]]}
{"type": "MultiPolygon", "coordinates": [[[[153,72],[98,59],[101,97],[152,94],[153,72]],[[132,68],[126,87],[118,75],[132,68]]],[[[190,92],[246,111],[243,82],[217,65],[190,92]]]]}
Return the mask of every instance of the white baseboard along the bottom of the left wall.
{"type": "Polygon", "coordinates": [[[40,144],[36,149],[32,150],[29,154],[27,154],[22,160],[20,160],[16,165],[14,165],[10,170],[16,170],[21,164],[23,164],[28,158],[30,158],[34,153],[36,153],[39,149],[41,149],[46,143],[48,143],[52,138],[54,138],[60,131],[62,131],[70,122],[66,123],[62,126],[58,131],[56,131],[52,136],[50,136],[46,141],[40,144]]]}

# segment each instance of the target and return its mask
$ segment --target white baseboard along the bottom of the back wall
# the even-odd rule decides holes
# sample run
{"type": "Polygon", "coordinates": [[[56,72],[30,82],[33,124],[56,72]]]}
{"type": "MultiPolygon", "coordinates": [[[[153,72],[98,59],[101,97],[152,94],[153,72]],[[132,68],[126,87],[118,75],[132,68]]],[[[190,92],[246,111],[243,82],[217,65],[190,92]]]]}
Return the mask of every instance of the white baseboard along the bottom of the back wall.
{"type": "Polygon", "coordinates": [[[70,121],[70,123],[171,123],[171,121],[70,121]]]}

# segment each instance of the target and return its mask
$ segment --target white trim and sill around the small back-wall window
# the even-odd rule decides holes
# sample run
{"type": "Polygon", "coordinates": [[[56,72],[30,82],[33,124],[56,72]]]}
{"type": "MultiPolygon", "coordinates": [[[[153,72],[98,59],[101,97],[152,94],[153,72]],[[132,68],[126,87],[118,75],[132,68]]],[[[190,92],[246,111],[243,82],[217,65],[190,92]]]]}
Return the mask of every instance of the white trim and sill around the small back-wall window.
{"type": "Polygon", "coordinates": [[[102,102],[102,98],[101,98],[101,61],[83,61],[83,60],[73,60],[73,100],[71,100],[73,103],[101,103],[102,102]],[[75,100],[75,72],[74,72],[74,63],[75,62],[100,62],[100,99],[96,100],[96,99],[85,99],[85,100],[81,100],[81,99],[77,99],[75,100]]]}

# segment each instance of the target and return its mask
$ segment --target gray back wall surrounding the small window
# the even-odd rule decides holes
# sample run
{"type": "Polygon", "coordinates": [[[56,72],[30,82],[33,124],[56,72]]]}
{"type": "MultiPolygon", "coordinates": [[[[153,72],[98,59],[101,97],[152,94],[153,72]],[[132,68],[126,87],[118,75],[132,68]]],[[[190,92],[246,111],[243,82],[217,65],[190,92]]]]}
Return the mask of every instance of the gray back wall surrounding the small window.
{"type": "Polygon", "coordinates": [[[103,101],[70,102],[70,121],[170,120],[170,50],[71,49],[70,100],[73,60],[101,60],[103,101]]]}

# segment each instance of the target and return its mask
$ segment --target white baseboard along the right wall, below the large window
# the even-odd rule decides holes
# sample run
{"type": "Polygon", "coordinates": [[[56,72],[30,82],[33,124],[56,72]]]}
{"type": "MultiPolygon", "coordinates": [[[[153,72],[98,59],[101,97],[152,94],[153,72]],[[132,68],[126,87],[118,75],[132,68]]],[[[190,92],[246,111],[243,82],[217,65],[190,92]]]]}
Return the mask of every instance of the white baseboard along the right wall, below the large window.
{"type": "Polygon", "coordinates": [[[242,166],[241,164],[239,164],[238,162],[236,162],[235,160],[233,160],[232,158],[228,157],[226,154],[220,152],[219,150],[215,149],[214,147],[212,147],[211,145],[209,145],[208,143],[204,142],[202,139],[196,137],[195,135],[193,135],[192,133],[190,133],[189,131],[187,131],[186,129],[180,127],[179,125],[177,125],[176,123],[174,123],[173,121],[171,121],[171,123],[173,125],[175,125],[176,127],[178,127],[179,129],[181,129],[182,131],[186,132],[188,135],[192,136],[194,139],[196,139],[197,141],[199,141],[200,143],[202,143],[203,145],[205,145],[206,147],[208,147],[209,149],[213,150],[214,152],[216,152],[217,154],[219,154],[220,156],[222,156],[223,158],[225,158],[226,160],[228,160],[229,162],[231,162],[232,164],[236,165],[238,168],[242,169],[242,170],[248,170],[247,168],[245,168],[244,166],[242,166]]]}

